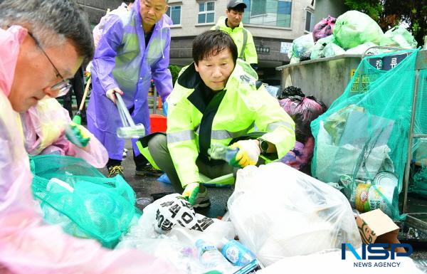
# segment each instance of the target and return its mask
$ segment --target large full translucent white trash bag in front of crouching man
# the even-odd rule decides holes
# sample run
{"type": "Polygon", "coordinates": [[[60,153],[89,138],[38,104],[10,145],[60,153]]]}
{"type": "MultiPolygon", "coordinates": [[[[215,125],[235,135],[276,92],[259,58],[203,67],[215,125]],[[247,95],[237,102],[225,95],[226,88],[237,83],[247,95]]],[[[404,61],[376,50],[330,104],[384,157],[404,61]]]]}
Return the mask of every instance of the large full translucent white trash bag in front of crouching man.
{"type": "Polygon", "coordinates": [[[241,243],[265,266],[342,243],[362,244],[346,197],[286,164],[239,170],[228,210],[241,243]]]}

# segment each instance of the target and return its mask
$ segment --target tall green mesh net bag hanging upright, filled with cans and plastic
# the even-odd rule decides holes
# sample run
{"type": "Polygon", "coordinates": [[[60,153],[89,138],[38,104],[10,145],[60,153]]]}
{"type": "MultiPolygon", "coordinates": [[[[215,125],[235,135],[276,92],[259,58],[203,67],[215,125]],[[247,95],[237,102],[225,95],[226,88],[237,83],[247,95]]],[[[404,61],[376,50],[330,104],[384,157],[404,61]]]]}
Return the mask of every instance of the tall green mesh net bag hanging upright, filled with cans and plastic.
{"type": "Polygon", "coordinates": [[[344,194],[359,211],[381,209],[391,218],[403,218],[398,196],[417,54],[408,50],[364,58],[344,93],[311,124],[312,175],[344,186],[344,194]]]}

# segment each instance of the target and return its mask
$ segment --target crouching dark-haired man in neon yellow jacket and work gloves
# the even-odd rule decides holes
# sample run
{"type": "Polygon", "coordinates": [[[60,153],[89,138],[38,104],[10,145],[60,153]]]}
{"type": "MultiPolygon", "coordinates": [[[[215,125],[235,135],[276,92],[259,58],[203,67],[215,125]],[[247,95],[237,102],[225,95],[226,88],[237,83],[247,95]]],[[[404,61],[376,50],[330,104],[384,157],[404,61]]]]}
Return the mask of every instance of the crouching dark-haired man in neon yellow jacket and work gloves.
{"type": "Polygon", "coordinates": [[[194,207],[210,205],[206,188],[199,185],[201,174],[233,173],[228,163],[209,157],[211,144],[237,147],[240,167],[263,163],[260,156],[265,162],[280,159],[295,144],[295,123],[237,52],[223,31],[197,36],[194,63],[181,70],[168,99],[167,136],[139,142],[147,159],[166,172],[176,191],[184,188],[183,196],[194,207]]]}

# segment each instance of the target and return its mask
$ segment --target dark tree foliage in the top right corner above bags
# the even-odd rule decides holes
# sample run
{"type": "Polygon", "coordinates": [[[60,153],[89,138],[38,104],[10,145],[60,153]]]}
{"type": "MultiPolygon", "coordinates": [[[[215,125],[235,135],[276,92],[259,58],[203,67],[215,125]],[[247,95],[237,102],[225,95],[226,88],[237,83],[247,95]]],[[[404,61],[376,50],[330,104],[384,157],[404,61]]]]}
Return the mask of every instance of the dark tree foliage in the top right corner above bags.
{"type": "Polygon", "coordinates": [[[406,23],[418,46],[423,45],[427,35],[427,0],[344,0],[344,3],[371,16],[384,32],[406,23]]]}

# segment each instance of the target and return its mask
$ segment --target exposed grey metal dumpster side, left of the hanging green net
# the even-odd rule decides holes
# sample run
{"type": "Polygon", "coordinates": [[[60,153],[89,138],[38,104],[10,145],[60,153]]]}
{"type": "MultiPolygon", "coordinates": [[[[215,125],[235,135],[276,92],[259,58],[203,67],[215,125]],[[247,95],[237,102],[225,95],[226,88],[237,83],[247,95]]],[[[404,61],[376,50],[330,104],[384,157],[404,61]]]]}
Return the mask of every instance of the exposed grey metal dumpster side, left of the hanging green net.
{"type": "Polygon", "coordinates": [[[314,95],[329,107],[341,95],[360,63],[362,55],[340,55],[282,65],[280,85],[300,87],[305,95],[314,95]]]}

